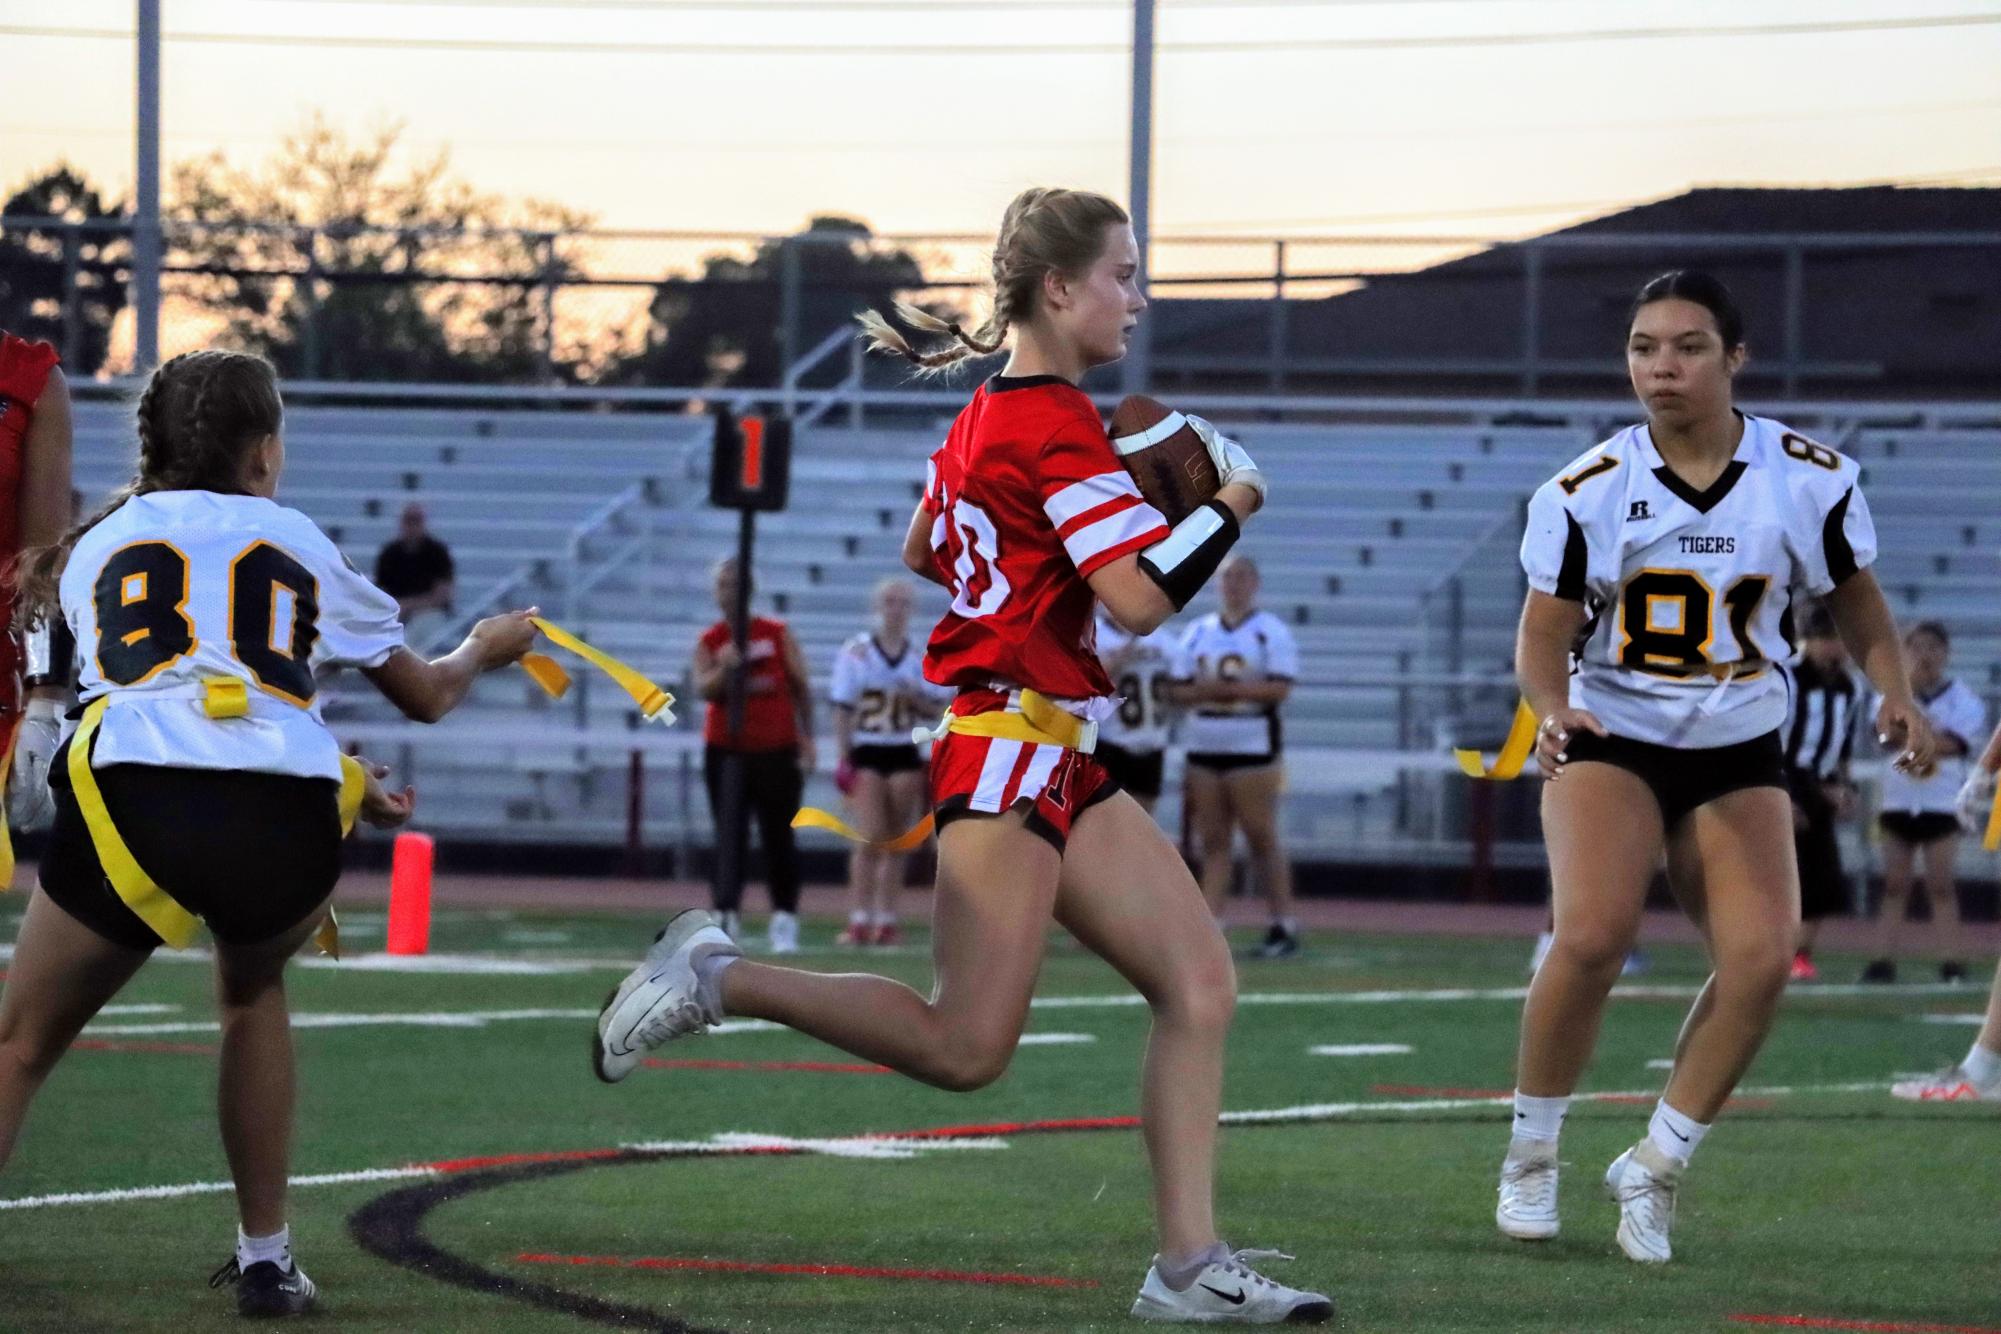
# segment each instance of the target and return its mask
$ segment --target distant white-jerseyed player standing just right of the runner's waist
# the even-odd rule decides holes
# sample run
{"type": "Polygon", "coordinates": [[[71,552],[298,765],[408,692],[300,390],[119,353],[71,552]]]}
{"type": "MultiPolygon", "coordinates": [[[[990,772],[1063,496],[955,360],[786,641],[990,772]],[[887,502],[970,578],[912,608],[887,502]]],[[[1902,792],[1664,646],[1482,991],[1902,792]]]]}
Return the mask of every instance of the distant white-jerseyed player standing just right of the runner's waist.
{"type": "Polygon", "coordinates": [[[1169,698],[1189,706],[1181,724],[1187,746],[1189,824],[1203,858],[1203,894],[1215,912],[1231,892],[1237,830],[1251,860],[1271,926],[1259,958],[1299,954],[1293,916],[1293,864],[1279,842],[1279,794],[1285,790],[1279,706],[1299,676],[1299,642],[1285,622],[1257,606],[1259,572],[1249,556],[1231,556],[1219,576],[1223,610],[1181,636],[1169,698]]]}

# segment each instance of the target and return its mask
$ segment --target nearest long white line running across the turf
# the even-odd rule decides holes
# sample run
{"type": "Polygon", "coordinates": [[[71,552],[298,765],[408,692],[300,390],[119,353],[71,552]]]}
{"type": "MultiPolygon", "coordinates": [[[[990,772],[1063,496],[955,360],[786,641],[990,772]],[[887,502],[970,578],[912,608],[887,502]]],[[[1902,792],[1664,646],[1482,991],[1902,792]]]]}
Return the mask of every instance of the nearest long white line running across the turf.
{"type": "MultiPolygon", "coordinates": [[[[1597,1094],[1577,1094],[1575,1102],[1603,1102],[1607,1098],[1653,1098],[1657,1090],[1641,1092],[1597,1092],[1597,1094]]],[[[1783,1094],[1857,1094],[1857,1092],[1887,1092],[1883,1080],[1871,1080],[1867,1084],[1797,1084],[1797,1086],[1767,1086],[1767,1088],[1739,1088],[1739,1098],[1775,1098],[1783,1094]]],[[[1255,1124],[1283,1124],[1283,1122],[1315,1122],[1315,1120],[1339,1120],[1343,1116],[1377,1116],[1383,1112],[1447,1112],[1453,1108],[1479,1108],[1489,1110],[1497,1106],[1511,1106],[1513,1098],[1419,1098],[1411,1102],[1317,1102],[1293,1108],[1269,1108],[1269,1110],[1249,1110],[1249,1112],[1225,1112],[1219,1120],[1225,1126],[1255,1126],[1255,1124]]],[[[1007,1140],[1000,1136],[966,1136],[952,1140],[902,1140],[894,1136],[846,1136],[836,1140],[794,1140],[786,1136],[770,1134],[746,1134],[746,1132],[724,1132],[710,1136],[706,1140],[646,1140],[638,1144],[622,1144],[620,1148],[652,1150],[652,1152],[696,1152],[696,1154],[730,1154],[744,1152],[750,1148],[790,1148],[804,1154],[826,1154],[834,1158],[908,1158],[924,1148],[1007,1148],[1007,1140]],[[862,1146],[886,1148],[886,1150],[914,1150],[914,1152],[862,1152],[862,1146]]],[[[352,1182],[392,1182],[416,1176],[438,1176],[436,1168],[428,1166],[402,1166],[402,1168],[370,1168],[362,1172],[318,1172],[314,1176],[294,1176],[292,1186],[346,1186],[352,1182]]],[[[230,1182],[180,1182],[174,1186],[128,1186],[124,1190],[70,1190],[46,1196],[20,1196],[14,1200],[0,1200],[0,1210],[24,1210],[24,1208],[52,1208],[62,1204],[126,1204],[132,1200],[176,1200],[180,1196],[196,1194],[222,1194],[232,1190],[230,1182]]]]}

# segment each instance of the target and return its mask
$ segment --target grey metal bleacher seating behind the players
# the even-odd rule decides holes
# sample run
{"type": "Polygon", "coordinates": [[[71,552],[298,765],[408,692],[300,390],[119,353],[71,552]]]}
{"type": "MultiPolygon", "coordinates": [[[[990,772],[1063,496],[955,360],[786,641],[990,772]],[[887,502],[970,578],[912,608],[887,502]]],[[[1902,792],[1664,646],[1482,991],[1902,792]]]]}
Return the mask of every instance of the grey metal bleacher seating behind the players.
{"type": "MultiPolygon", "coordinates": [[[[128,472],[126,414],[78,414],[78,486],[128,472]]],[[[1245,550],[1265,606],[1301,640],[1305,676],[1287,708],[1303,764],[1289,796],[1301,850],[1339,856],[1395,842],[1401,766],[1447,736],[1495,740],[1513,708],[1507,670],[1529,492],[1589,448],[1601,420],[1563,424],[1237,422],[1275,480],[1245,550]],[[1485,676],[1459,686],[1453,674],[1485,676]],[[1453,682],[1453,684],[1447,684],[1453,682]],[[1341,752],[1341,762],[1313,764],[1341,752]]],[[[538,602],[578,634],[676,688],[672,734],[636,726],[630,702],[578,670],[560,704],[514,672],[486,678],[448,722],[396,722],[352,678],[328,686],[336,730],[418,774],[424,822],[484,840],[618,842],[630,780],[652,844],[708,838],[684,672],[714,620],[710,564],[736,518],[706,508],[704,418],[532,410],[298,408],[288,416],[282,500],[312,514],[364,570],[410,498],[460,568],[464,616],[538,602]],[[642,756],[634,764],[634,756],[642,756]]],[[[2001,688],[2001,430],[1857,428],[1837,440],[1867,468],[1881,530],[1877,566],[1899,618],[1955,632],[1963,676],[2001,688]]],[[[926,428],[802,428],[792,506],[758,526],[758,610],[786,618],[824,688],[840,640],[868,620],[870,590],[900,574],[898,550],[942,436],[926,428]]],[[[1209,610],[1207,598],[1191,616],[1209,610]]],[[[918,588],[918,632],[942,610],[918,588]]],[[[820,778],[808,800],[836,800],[820,778]]],[[[1173,802],[1167,808],[1173,818],[1173,802]]]]}

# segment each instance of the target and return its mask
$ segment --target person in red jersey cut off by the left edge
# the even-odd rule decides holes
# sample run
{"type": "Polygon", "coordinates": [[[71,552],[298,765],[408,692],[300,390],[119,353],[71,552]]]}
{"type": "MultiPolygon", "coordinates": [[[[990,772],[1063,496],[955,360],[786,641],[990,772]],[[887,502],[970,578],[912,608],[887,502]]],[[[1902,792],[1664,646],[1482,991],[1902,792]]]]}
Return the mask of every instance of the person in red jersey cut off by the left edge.
{"type": "MultiPolygon", "coordinates": [[[[14,618],[22,548],[50,546],[70,526],[70,386],[56,350],[0,332],[0,754],[8,766],[8,820],[40,824],[52,810],[56,754],[70,682],[68,634],[14,618]],[[24,648],[28,652],[24,652],[24,648]],[[26,696],[26,698],[24,698],[26,696]]],[[[6,888],[6,886],[0,886],[6,888]]]]}

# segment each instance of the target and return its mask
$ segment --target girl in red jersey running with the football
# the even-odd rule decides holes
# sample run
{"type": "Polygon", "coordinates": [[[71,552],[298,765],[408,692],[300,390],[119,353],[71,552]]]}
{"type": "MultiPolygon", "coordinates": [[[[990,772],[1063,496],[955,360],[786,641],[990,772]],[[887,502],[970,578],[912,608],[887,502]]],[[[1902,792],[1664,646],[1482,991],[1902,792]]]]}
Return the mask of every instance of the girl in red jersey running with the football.
{"type": "Polygon", "coordinates": [[[914,310],[952,346],[916,352],[864,316],[876,348],[926,368],[1015,348],[932,456],[904,562],[952,608],[924,676],[958,690],[930,762],[938,820],[934,984],[772,968],[738,958],[702,912],[668,922],[598,1020],[598,1076],[722,1016],[776,1020],[936,1088],[1007,1070],[1055,916],[1153,1008],[1141,1086],[1161,1250],[1135,1316],[1309,1322],[1333,1302],[1251,1268],[1213,1218],[1223,1042],[1235,1006],[1229,948],[1181,854],[1093,758],[1117,700],[1091,648],[1093,598],[1135,634],[1207,582],[1263,504],[1237,442],[1201,424],[1221,494],[1175,528],[1141,500],[1077,382],[1125,354],[1147,302],[1119,204],[1029,190],[992,256],[994,314],[974,334],[914,310]]]}

